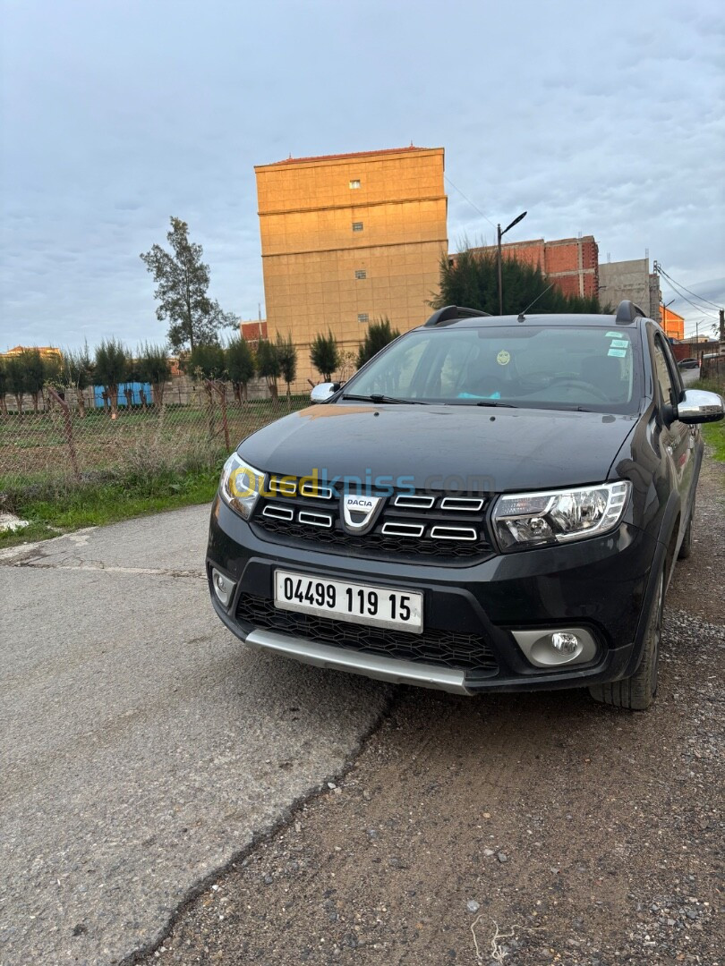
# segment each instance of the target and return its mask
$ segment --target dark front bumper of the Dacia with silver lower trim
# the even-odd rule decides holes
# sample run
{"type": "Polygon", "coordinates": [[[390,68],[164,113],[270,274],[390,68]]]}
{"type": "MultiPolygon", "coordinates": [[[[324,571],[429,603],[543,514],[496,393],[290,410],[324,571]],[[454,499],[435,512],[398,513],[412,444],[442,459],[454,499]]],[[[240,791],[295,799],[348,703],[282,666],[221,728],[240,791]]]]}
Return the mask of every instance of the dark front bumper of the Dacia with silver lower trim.
{"type": "MultiPolygon", "coordinates": [[[[312,544],[301,549],[260,539],[217,497],[207,572],[218,616],[249,645],[319,667],[476,694],[583,687],[631,674],[639,661],[646,624],[642,616],[649,610],[657,549],[652,537],[623,524],[606,536],[500,554],[464,567],[350,557],[316,550],[312,544]],[[212,585],[213,567],[234,583],[227,606],[219,602],[212,585]],[[289,614],[275,611],[272,603],[277,567],[323,581],[422,591],[427,650],[403,659],[399,650],[384,653],[378,647],[370,651],[365,648],[366,629],[360,625],[354,629],[347,625],[355,632],[354,646],[335,645],[329,634],[299,633],[289,614]],[[250,602],[255,602],[258,621],[249,609],[250,602]],[[536,637],[530,632],[569,628],[581,629],[593,642],[583,662],[536,666],[526,648],[517,643],[517,637],[536,637]],[[456,667],[455,655],[443,647],[436,654],[430,640],[437,635],[484,642],[485,667],[472,668],[471,662],[456,667]]],[[[325,618],[318,619],[318,628],[327,631],[332,626],[320,625],[319,620],[325,618]]],[[[405,637],[415,647],[416,636],[405,637]]]]}

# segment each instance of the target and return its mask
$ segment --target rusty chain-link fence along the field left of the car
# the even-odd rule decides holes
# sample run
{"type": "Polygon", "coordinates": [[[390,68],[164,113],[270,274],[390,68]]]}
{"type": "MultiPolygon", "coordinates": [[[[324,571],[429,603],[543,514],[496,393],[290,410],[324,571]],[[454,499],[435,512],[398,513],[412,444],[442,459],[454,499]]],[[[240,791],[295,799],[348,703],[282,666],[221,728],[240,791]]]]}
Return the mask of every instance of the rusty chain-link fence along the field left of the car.
{"type": "Polygon", "coordinates": [[[117,412],[46,400],[44,412],[0,415],[0,496],[33,484],[212,467],[250,433],[308,405],[308,396],[238,402],[217,392],[117,412]]]}

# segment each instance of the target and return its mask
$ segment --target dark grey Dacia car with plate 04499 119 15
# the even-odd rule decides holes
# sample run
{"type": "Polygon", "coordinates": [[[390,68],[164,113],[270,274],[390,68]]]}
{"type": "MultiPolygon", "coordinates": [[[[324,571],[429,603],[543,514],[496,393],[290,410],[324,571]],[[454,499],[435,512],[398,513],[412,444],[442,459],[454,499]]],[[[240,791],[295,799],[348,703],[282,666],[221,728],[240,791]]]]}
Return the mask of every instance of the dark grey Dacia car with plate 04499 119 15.
{"type": "Polygon", "coordinates": [[[448,306],[227,461],[207,571],[247,644],[463,694],[646,708],[722,399],[662,330],[448,306]]]}

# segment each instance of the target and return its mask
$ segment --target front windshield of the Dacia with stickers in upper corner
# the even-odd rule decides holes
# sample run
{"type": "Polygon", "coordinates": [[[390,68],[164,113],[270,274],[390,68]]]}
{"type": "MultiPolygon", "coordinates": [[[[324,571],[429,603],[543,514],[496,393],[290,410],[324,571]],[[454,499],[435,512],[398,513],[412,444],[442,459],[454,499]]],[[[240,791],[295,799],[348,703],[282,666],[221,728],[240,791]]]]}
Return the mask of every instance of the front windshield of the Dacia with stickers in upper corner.
{"type": "Polygon", "coordinates": [[[450,405],[636,412],[638,344],[602,327],[416,329],[346,385],[346,397],[450,405]]]}

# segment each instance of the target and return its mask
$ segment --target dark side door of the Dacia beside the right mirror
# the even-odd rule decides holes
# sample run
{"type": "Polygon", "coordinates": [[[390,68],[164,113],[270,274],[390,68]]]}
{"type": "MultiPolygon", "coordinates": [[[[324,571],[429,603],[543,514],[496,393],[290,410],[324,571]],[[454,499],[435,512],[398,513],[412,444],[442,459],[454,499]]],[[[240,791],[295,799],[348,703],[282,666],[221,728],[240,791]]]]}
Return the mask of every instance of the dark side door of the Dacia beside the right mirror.
{"type": "Polygon", "coordinates": [[[693,475],[695,469],[696,427],[686,426],[679,419],[675,419],[668,426],[664,415],[665,406],[677,406],[682,396],[680,373],[677,370],[669,346],[658,333],[654,333],[652,340],[652,357],[654,360],[654,381],[658,394],[660,412],[660,443],[675,474],[676,485],[680,493],[681,526],[685,526],[689,519],[692,497],[693,475]]]}

